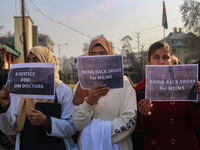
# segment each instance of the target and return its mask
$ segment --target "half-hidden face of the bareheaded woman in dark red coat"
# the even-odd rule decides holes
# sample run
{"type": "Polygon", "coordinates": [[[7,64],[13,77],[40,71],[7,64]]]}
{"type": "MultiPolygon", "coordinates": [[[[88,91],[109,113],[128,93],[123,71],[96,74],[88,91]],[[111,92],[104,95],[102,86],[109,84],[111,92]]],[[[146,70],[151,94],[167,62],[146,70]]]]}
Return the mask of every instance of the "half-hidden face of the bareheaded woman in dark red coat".
{"type": "Polygon", "coordinates": [[[172,57],[165,48],[159,48],[150,56],[148,65],[172,65],[172,57]]]}

